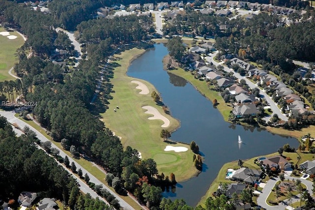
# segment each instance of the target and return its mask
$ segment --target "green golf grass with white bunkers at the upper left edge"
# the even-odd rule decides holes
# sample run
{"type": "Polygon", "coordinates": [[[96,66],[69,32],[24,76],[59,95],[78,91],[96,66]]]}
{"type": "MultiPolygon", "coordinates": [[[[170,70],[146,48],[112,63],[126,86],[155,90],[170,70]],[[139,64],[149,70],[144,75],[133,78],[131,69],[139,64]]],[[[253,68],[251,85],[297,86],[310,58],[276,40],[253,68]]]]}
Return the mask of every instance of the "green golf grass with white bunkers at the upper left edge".
{"type": "MultiPolygon", "coordinates": [[[[5,31],[0,27],[0,32],[5,31]]],[[[0,82],[4,80],[15,80],[8,71],[17,62],[15,57],[16,49],[24,44],[23,38],[17,32],[10,32],[10,35],[17,36],[16,39],[8,39],[7,36],[0,35],[0,82]]]]}

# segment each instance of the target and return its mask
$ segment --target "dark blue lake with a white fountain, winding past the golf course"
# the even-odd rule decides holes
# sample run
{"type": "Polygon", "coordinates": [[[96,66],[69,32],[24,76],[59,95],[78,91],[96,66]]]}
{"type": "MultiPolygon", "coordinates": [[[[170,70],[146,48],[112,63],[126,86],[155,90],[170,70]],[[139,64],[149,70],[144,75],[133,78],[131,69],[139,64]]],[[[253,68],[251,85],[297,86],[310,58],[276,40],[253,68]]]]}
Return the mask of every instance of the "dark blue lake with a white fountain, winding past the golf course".
{"type": "Polygon", "coordinates": [[[224,163],[270,154],[287,143],[298,147],[294,138],[225,122],[211,101],[184,79],[163,70],[162,59],[167,54],[166,47],[155,45],[131,63],[127,75],[146,80],[157,88],[172,116],[181,122],[181,127],[172,133],[171,139],[187,143],[195,141],[204,154],[205,166],[198,177],[178,183],[176,192],[165,192],[164,197],[172,200],[184,198],[189,205],[195,206],[224,163]],[[243,140],[240,148],[238,135],[243,140]]]}

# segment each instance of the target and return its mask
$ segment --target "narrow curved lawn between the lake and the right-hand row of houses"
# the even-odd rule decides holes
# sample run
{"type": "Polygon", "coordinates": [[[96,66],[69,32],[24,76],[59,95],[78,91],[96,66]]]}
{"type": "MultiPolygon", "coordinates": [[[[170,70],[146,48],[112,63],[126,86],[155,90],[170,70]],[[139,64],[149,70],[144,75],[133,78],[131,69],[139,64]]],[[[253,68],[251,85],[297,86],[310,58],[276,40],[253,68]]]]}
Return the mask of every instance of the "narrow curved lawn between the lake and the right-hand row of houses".
{"type": "Polygon", "coordinates": [[[218,110],[220,111],[221,115],[223,116],[225,121],[228,121],[228,116],[230,114],[230,111],[232,109],[231,106],[228,106],[229,104],[225,103],[221,95],[219,95],[219,92],[215,90],[210,90],[211,88],[214,88],[214,86],[207,85],[206,81],[200,81],[198,79],[195,79],[193,75],[189,71],[184,71],[181,68],[178,68],[176,70],[170,70],[168,71],[172,74],[175,74],[177,76],[180,76],[187,80],[189,83],[191,83],[202,95],[206,96],[210,101],[213,101],[214,99],[217,99],[219,105],[217,106],[218,110]]]}

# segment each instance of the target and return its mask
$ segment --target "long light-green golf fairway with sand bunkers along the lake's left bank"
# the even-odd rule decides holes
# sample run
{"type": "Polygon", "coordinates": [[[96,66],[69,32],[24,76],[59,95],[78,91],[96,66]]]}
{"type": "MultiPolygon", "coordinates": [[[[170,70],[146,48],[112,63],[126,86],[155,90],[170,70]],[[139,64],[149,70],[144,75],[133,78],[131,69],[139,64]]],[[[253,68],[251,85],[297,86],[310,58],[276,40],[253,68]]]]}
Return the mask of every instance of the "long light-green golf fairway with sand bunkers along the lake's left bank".
{"type": "MultiPolygon", "coordinates": [[[[158,111],[170,120],[170,126],[166,129],[173,131],[179,127],[179,121],[166,115],[162,107],[158,106],[151,97],[153,90],[158,92],[150,83],[127,77],[126,70],[130,61],[136,56],[144,53],[142,49],[131,49],[123,52],[121,55],[115,55],[119,67],[114,70],[114,78],[111,80],[114,92],[111,94],[113,99],[108,105],[109,109],[106,113],[101,113],[106,127],[115,131],[116,135],[122,137],[122,144],[131,146],[141,152],[143,158],[154,158],[158,165],[159,173],[169,176],[174,173],[177,181],[188,180],[196,175],[192,161],[193,153],[191,150],[186,152],[164,151],[165,147],[169,145],[160,138],[160,131],[162,130],[161,120],[148,120],[152,115],[145,114],[146,110],[143,106],[153,106],[158,111]],[[139,94],[140,90],[135,89],[137,84],[130,81],[137,80],[144,83],[150,90],[147,95],[139,94]],[[116,106],[119,106],[117,112],[114,112],[116,106]]],[[[181,141],[177,139],[177,141],[181,141]]],[[[176,144],[173,146],[188,145],[176,144]]]]}

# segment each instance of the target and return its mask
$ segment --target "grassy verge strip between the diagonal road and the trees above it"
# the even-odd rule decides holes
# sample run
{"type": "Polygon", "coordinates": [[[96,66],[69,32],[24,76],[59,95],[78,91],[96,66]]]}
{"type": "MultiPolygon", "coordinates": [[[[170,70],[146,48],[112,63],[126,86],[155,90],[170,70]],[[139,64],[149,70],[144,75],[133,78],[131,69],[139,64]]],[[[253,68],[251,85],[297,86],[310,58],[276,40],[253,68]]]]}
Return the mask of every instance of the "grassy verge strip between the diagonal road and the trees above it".
{"type": "MultiPolygon", "coordinates": [[[[33,128],[35,128],[38,132],[40,132],[42,135],[44,135],[47,139],[51,139],[51,137],[49,135],[46,134],[46,131],[40,127],[38,124],[36,124],[34,121],[32,120],[24,120],[23,118],[19,117],[19,114],[15,114],[15,117],[19,118],[20,120],[25,121],[26,123],[28,123],[29,125],[31,125],[33,128]]],[[[63,150],[63,147],[61,146],[60,142],[54,142],[52,141],[52,143],[54,145],[56,145],[59,149],[63,150]]],[[[71,157],[71,153],[67,150],[63,150],[69,157],[71,157]]],[[[80,164],[85,170],[87,170],[88,172],[90,172],[97,180],[100,180],[103,184],[105,184],[106,186],[108,186],[107,182],[105,181],[105,175],[104,173],[98,168],[95,167],[95,164],[93,162],[90,162],[84,158],[80,158],[80,159],[74,159],[75,162],[77,162],[78,164],[80,164]]],[[[114,190],[114,188],[108,186],[111,190],[114,190]]],[[[141,209],[141,207],[135,202],[133,201],[130,197],[128,196],[122,196],[119,195],[119,197],[121,197],[124,201],[126,201],[133,209],[138,210],[141,209]]],[[[61,206],[59,206],[61,207],[61,206]]]]}

